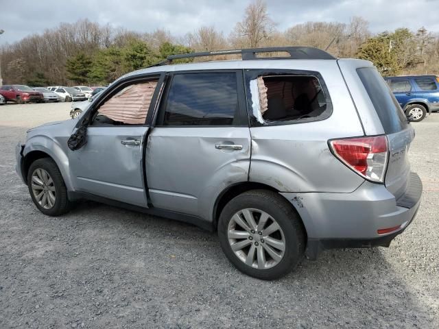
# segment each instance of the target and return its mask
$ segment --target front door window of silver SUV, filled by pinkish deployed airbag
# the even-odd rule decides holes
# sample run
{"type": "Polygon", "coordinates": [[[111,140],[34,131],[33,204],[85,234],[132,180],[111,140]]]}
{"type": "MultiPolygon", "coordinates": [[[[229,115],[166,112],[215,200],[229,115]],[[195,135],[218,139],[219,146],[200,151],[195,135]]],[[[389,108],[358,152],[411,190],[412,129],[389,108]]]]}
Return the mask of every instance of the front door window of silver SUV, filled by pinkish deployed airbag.
{"type": "Polygon", "coordinates": [[[130,84],[97,110],[93,125],[144,125],[158,80],[130,84]]]}

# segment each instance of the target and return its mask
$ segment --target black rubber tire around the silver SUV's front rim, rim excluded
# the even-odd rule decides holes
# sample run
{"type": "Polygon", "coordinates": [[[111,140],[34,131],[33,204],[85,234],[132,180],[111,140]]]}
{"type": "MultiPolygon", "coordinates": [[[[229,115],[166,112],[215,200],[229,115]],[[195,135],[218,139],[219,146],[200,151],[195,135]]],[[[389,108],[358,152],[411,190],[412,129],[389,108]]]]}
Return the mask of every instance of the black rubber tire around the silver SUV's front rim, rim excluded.
{"type": "Polygon", "coordinates": [[[36,205],[36,208],[38,208],[40,212],[43,212],[43,214],[49,216],[59,216],[70,210],[71,202],[69,202],[67,197],[67,188],[64,184],[64,180],[62,179],[60,169],[58,169],[58,166],[51,158],[41,158],[32,162],[27,173],[27,186],[29,188],[32,201],[36,205]],[[54,205],[49,209],[43,208],[43,206],[36,201],[36,197],[32,191],[32,174],[36,169],[44,169],[47,171],[47,173],[49,173],[51,179],[54,181],[56,199],[54,205]]]}

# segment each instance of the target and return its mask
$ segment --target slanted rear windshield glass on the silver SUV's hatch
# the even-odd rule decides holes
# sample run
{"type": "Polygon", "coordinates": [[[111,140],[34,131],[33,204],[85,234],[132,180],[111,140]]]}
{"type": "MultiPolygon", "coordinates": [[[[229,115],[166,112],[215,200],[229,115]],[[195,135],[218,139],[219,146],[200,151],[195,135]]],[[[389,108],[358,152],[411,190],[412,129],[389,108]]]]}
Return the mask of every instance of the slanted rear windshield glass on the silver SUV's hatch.
{"type": "Polygon", "coordinates": [[[383,77],[373,67],[357,69],[358,76],[381,120],[385,134],[393,134],[407,127],[407,118],[383,77]]]}

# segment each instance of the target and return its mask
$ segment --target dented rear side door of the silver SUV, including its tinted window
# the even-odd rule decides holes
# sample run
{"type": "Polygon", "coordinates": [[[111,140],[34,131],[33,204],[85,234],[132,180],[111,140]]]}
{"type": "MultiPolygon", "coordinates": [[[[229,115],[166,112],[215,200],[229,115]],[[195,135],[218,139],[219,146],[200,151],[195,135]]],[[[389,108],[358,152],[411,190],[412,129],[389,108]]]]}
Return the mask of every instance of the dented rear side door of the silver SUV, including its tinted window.
{"type": "Polygon", "coordinates": [[[162,98],[145,157],[151,203],[209,219],[219,192],[248,180],[242,72],[173,73],[162,98]]]}

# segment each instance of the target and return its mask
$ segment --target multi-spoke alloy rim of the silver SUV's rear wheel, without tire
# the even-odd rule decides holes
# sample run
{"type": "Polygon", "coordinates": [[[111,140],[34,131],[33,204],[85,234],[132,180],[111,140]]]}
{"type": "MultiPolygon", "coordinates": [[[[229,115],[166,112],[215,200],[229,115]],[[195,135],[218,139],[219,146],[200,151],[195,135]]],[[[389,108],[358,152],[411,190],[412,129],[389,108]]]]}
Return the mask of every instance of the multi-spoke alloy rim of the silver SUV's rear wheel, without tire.
{"type": "Polygon", "coordinates": [[[281,262],[285,254],[281,226],[262,210],[239,210],[228,223],[227,236],[235,255],[255,269],[270,269],[281,262]]]}

